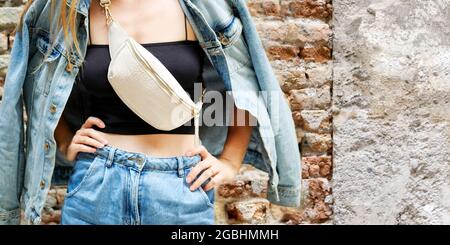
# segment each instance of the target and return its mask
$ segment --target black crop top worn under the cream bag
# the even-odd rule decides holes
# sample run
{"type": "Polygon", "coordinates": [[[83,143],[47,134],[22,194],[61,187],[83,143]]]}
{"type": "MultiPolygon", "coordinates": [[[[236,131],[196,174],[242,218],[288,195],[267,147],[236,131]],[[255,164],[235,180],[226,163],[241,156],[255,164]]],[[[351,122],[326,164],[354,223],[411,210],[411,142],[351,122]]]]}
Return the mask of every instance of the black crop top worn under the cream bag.
{"type": "MultiPolygon", "coordinates": [[[[204,52],[198,41],[148,43],[142,46],[167,67],[194,101],[198,100],[194,98],[194,83],[202,82],[204,62],[204,52]]],[[[174,130],[161,131],[131,111],[107,80],[110,61],[108,45],[88,45],[85,62],[78,73],[63,113],[73,131],[78,130],[89,116],[95,116],[100,118],[106,127],[94,126],[94,128],[107,133],[194,134],[193,120],[188,125],[182,125],[174,130]]],[[[196,94],[200,93],[197,91],[196,94]]]]}

